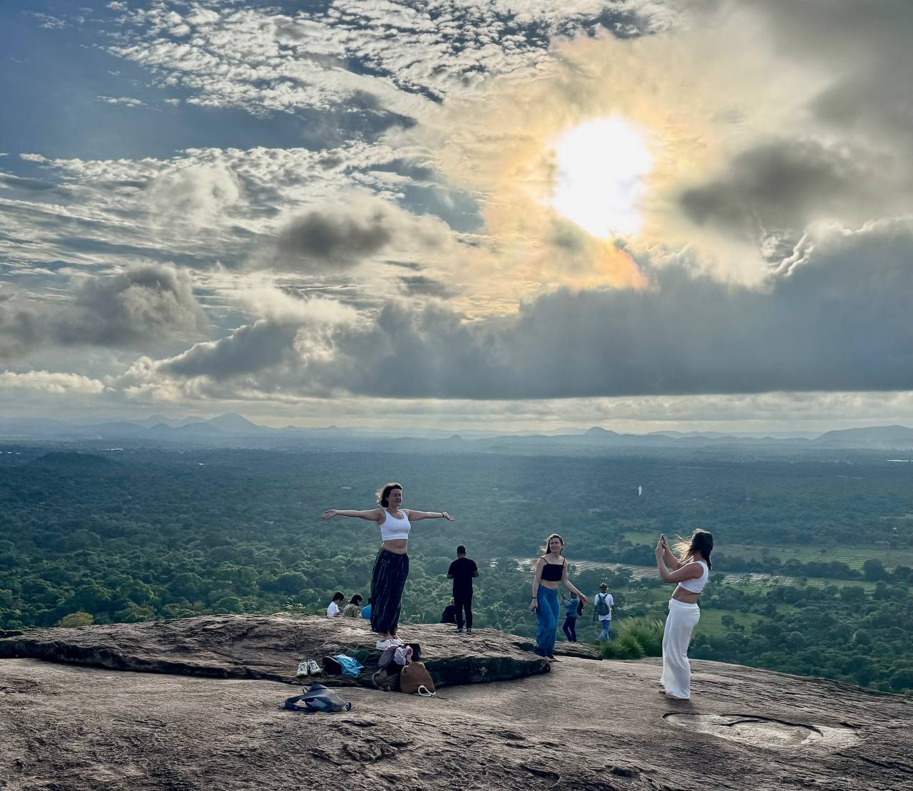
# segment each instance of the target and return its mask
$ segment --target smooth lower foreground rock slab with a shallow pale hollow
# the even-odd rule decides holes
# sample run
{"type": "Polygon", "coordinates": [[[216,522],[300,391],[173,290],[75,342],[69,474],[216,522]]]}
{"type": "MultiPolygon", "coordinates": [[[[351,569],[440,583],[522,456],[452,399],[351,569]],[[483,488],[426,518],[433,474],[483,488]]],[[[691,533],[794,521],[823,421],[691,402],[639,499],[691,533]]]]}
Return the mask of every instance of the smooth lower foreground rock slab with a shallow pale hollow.
{"type": "Polygon", "coordinates": [[[434,698],[341,690],[352,711],[278,706],[285,684],[0,661],[0,787],[347,791],[826,789],[913,785],[913,701],[695,661],[568,658],[434,698]]]}

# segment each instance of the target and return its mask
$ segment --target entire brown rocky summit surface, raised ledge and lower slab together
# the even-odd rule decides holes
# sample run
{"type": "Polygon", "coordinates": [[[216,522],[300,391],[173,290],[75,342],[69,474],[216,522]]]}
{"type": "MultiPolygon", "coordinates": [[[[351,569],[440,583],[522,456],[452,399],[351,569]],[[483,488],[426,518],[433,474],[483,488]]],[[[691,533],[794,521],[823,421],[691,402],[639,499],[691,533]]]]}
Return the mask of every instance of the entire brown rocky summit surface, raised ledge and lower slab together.
{"type": "Polygon", "coordinates": [[[658,660],[565,645],[549,672],[513,635],[407,629],[438,694],[356,682],[338,689],[352,711],[334,714],[281,705],[303,658],[360,652],[370,677],[378,652],[357,621],[219,616],[0,638],[0,788],[913,787],[909,698],[693,661],[694,697],[678,703],[657,694],[658,660]]]}

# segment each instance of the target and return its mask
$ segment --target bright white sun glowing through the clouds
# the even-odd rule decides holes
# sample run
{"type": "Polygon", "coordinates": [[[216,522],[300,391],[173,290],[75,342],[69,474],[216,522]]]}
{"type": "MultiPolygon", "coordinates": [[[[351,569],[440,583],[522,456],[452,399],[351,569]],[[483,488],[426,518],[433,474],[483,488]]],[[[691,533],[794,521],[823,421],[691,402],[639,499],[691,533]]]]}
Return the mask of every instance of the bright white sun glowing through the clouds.
{"type": "Polygon", "coordinates": [[[653,167],[643,134],[614,116],[585,121],[555,143],[551,207],[600,239],[636,234],[653,167]]]}

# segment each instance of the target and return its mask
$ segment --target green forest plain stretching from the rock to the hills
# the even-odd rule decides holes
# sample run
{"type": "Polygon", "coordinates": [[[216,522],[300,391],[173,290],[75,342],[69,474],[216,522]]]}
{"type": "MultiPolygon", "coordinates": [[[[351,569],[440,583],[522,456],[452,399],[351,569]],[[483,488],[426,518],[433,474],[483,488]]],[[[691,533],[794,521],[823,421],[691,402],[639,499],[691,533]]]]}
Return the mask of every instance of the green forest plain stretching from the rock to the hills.
{"type": "Polygon", "coordinates": [[[81,450],[0,454],[2,629],[318,612],[336,589],[366,597],[376,526],[319,516],[373,507],[374,490],[398,480],[407,507],[456,516],[413,530],[407,621],[439,618],[464,543],[482,568],[477,627],[532,635],[518,563],[553,530],[572,564],[635,571],[588,567],[578,586],[606,580],[619,617],[662,618],[670,589],[637,568],[652,565],[660,532],[703,527],[717,550],[694,656],[913,688],[913,470],[881,453],[81,450]]]}

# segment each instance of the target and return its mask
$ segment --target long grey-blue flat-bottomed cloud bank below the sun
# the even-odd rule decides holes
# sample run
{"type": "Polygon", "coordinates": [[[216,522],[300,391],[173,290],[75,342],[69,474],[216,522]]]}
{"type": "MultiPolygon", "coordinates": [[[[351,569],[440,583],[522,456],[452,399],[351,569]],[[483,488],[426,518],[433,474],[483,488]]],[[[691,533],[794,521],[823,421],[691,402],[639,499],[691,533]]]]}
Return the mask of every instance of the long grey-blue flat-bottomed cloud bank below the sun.
{"type": "MultiPolygon", "coordinates": [[[[764,290],[665,267],[643,290],[559,289],[516,317],[467,322],[434,303],[417,311],[390,303],[371,322],[324,328],[313,347],[299,334],[293,340],[291,328],[268,325],[218,344],[254,359],[249,341],[262,334],[271,351],[261,352],[266,364],[244,389],[298,396],[509,400],[913,388],[913,223],[821,229],[808,247],[802,263],[771,276],[764,290]]],[[[172,361],[161,371],[224,380],[217,390],[230,393],[231,366],[207,351],[194,355],[193,367],[172,361]]]]}

